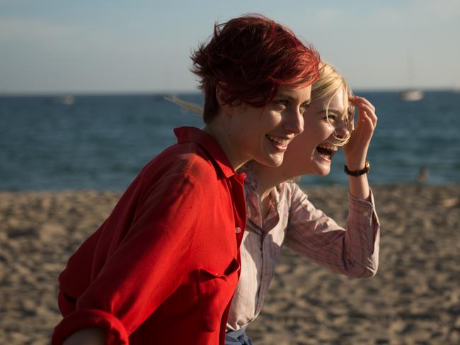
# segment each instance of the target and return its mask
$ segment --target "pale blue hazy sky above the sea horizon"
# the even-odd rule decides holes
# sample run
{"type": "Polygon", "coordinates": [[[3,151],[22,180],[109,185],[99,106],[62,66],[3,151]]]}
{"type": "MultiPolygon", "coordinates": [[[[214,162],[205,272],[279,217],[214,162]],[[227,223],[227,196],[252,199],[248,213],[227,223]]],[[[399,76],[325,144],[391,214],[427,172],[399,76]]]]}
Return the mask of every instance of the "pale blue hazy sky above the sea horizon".
{"type": "Polygon", "coordinates": [[[262,13],[355,90],[460,88],[458,0],[0,0],[0,94],[197,91],[190,52],[262,13]]]}

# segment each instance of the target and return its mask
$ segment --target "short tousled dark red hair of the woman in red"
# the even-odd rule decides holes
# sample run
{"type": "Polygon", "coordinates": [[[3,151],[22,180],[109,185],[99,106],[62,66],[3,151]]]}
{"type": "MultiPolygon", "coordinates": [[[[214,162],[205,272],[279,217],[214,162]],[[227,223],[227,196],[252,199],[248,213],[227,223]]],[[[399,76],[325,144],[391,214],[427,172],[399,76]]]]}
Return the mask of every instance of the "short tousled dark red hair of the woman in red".
{"type": "Polygon", "coordinates": [[[203,118],[217,115],[216,87],[226,104],[264,107],[281,85],[308,86],[318,78],[319,54],[289,28],[251,14],[214,24],[214,35],[191,56],[205,93],[203,118]]]}

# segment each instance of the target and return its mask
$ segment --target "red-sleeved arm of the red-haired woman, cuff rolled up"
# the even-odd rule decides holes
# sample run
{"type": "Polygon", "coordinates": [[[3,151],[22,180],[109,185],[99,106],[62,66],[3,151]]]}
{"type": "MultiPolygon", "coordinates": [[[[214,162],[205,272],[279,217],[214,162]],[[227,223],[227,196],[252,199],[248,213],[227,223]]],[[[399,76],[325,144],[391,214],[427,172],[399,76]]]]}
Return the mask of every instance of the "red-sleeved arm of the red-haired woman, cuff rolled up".
{"type": "Polygon", "coordinates": [[[188,274],[200,191],[192,177],[182,173],[151,183],[127,233],[79,297],[76,310],[57,325],[52,344],[67,338],[69,344],[86,344],[76,342],[81,337],[100,341],[97,328],[106,332],[106,344],[128,343],[134,329],[188,274]]]}

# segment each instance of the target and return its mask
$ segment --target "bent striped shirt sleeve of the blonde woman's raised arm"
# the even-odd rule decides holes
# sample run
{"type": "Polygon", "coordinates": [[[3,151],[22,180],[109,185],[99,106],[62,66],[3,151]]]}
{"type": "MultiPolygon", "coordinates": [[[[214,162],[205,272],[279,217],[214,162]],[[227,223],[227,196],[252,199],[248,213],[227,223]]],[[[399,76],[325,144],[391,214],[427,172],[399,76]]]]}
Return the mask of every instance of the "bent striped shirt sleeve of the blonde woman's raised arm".
{"type": "Polygon", "coordinates": [[[316,209],[292,183],[285,244],[307,259],[347,276],[374,276],[379,259],[379,220],[372,192],[369,199],[348,195],[347,230],[316,209]]]}

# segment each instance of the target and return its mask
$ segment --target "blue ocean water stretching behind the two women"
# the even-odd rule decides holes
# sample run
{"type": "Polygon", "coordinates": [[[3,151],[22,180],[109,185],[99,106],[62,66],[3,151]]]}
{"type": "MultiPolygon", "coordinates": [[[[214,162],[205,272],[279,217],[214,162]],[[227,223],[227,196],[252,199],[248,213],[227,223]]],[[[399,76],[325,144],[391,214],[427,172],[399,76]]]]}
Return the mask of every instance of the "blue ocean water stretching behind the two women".
{"type": "MultiPolygon", "coordinates": [[[[460,182],[460,93],[427,91],[417,102],[398,92],[357,92],[379,117],[369,149],[374,185],[460,182]]],[[[122,191],[139,170],[176,142],[174,127],[202,119],[156,95],[0,96],[0,190],[122,191]]],[[[200,93],[178,94],[202,104],[200,93]]],[[[304,187],[345,185],[343,153],[326,177],[304,187]]]]}

